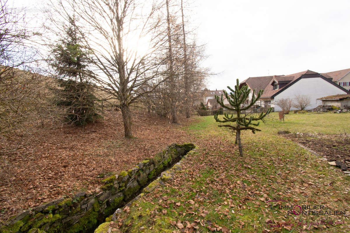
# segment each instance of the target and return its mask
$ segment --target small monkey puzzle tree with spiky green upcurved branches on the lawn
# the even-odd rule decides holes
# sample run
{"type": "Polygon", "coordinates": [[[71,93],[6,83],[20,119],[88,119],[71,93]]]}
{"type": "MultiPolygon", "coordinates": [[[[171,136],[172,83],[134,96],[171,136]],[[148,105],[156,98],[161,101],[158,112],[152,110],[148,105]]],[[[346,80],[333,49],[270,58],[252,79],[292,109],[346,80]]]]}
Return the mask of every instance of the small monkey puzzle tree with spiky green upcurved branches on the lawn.
{"type": "Polygon", "coordinates": [[[231,89],[229,86],[227,87],[229,90],[231,90],[231,93],[228,94],[225,90],[223,90],[226,99],[228,100],[230,105],[225,105],[223,102],[223,95],[221,95],[221,98],[219,96],[215,96],[216,101],[223,107],[230,110],[233,110],[233,114],[224,114],[223,119],[219,119],[219,111],[214,116],[214,119],[217,122],[221,123],[232,123],[232,124],[224,124],[224,125],[218,125],[219,127],[228,127],[232,130],[232,132],[236,132],[236,144],[238,143],[238,150],[239,155],[243,156],[243,150],[242,150],[242,144],[241,144],[241,138],[240,133],[242,130],[251,130],[253,133],[255,131],[261,131],[256,128],[256,126],[259,125],[259,122],[253,123],[254,121],[259,121],[267,116],[272,110],[272,108],[269,108],[265,113],[261,112],[258,116],[249,116],[245,114],[245,110],[249,109],[250,107],[255,104],[260,96],[262,95],[263,90],[259,90],[257,95],[255,96],[255,90],[253,90],[252,100],[251,103],[244,106],[244,102],[249,97],[249,93],[251,89],[248,88],[248,86],[243,86],[242,88],[239,88],[239,81],[237,79],[237,84],[235,86],[235,90],[231,89]]]}

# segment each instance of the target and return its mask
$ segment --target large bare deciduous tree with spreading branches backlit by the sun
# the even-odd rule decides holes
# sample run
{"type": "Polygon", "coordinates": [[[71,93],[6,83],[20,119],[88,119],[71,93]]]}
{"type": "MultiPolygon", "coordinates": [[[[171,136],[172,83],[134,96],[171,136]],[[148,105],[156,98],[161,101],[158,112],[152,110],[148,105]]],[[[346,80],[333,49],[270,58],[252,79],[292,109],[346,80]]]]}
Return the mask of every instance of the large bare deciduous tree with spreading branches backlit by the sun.
{"type": "Polygon", "coordinates": [[[160,3],[66,0],[59,1],[59,6],[52,4],[62,18],[72,13],[79,20],[76,27],[83,35],[83,46],[91,51],[94,80],[119,100],[124,136],[133,137],[130,105],[158,86],[161,63],[154,58],[166,43],[157,31],[161,24],[160,3]],[[144,51],[134,48],[139,44],[143,44],[144,51]],[[142,88],[145,85],[152,88],[142,88]]]}

